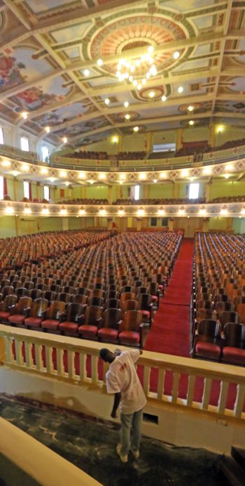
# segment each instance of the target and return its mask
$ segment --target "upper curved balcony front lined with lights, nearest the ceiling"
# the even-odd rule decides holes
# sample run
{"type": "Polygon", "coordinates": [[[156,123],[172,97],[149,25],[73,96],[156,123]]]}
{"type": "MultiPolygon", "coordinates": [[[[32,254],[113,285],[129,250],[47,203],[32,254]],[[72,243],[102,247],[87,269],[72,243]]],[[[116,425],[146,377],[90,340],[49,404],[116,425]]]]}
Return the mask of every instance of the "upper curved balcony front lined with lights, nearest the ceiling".
{"type": "MultiPolygon", "coordinates": [[[[43,162],[38,161],[34,158],[34,152],[22,152],[18,149],[15,155],[15,148],[7,147],[11,150],[6,150],[6,145],[2,145],[0,147],[0,172],[4,174],[10,174],[12,176],[19,176],[20,178],[33,178],[34,180],[47,180],[53,179],[56,180],[57,183],[62,183],[64,180],[69,180],[71,183],[80,184],[80,183],[109,183],[109,184],[116,184],[116,183],[127,183],[127,184],[135,184],[135,183],[157,183],[163,182],[164,180],[172,180],[172,182],[183,180],[188,178],[189,180],[200,179],[200,178],[209,178],[212,177],[219,177],[224,176],[228,178],[229,172],[230,173],[242,173],[245,171],[245,145],[241,146],[237,149],[237,152],[234,153],[233,149],[228,149],[222,152],[225,152],[225,162],[218,162],[215,161],[213,158],[209,157],[214,154],[210,153],[205,154],[205,160],[202,162],[193,162],[193,166],[189,168],[183,164],[185,169],[174,169],[170,168],[170,166],[164,166],[164,169],[161,166],[151,168],[149,166],[141,166],[141,168],[137,168],[136,164],[137,161],[132,161],[134,163],[134,169],[130,171],[130,167],[116,168],[116,167],[106,167],[102,168],[99,167],[92,167],[91,160],[87,163],[90,166],[87,166],[87,169],[84,169],[83,166],[69,166],[69,169],[66,169],[62,163],[57,164],[44,164],[43,162]],[[233,151],[233,152],[232,152],[233,151]],[[20,152],[22,152],[20,154],[20,152]],[[242,152],[242,153],[241,153],[242,152]],[[17,155],[25,155],[25,159],[18,157],[17,155]],[[16,158],[15,158],[16,157],[16,158]],[[228,164],[229,162],[229,164],[228,164]],[[118,173],[119,172],[119,173],[118,173]]],[[[217,156],[219,152],[215,152],[217,156]]],[[[186,157],[181,157],[182,159],[186,159],[186,157]]],[[[57,161],[59,160],[64,162],[66,159],[57,157],[57,161]]],[[[74,160],[76,159],[69,159],[74,164],[74,160]]],[[[172,159],[176,160],[176,159],[172,159]]],[[[223,159],[224,160],[224,159],[223,159]]],[[[84,161],[83,161],[84,162],[84,161]]],[[[110,163],[109,161],[101,161],[104,163],[110,163]]],[[[127,161],[130,162],[130,161],[127,161]]],[[[145,162],[154,162],[154,161],[145,161],[145,162]]],[[[158,161],[159,162],[159,161],[158,161]]],[[[160,161],[161,162],[161,161],[160,161]]]]}

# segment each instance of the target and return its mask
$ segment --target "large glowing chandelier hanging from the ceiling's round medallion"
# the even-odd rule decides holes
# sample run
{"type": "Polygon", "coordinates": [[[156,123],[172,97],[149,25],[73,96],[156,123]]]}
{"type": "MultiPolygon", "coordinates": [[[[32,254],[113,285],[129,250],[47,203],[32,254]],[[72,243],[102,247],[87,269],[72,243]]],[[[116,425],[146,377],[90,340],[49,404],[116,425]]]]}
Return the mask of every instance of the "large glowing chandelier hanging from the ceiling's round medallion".
{"type": "Polygon", "coordinates": [[[158,74],[154,63],[153,51],[153,46],[149,46],[148,53],[141,55],[140,58],[132,62],[120,59],[116,72],[119,81],[130,81],[140,91],[151,76],[158,74]]]}

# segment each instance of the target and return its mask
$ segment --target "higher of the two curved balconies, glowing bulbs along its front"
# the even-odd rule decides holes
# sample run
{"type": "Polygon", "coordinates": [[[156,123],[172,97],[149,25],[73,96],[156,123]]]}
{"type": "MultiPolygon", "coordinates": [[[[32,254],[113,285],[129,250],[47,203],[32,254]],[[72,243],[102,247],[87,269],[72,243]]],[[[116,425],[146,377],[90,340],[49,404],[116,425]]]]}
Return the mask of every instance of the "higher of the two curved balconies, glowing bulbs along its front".
{"type": "Polygon", "coordinates": [[[0,145],[0,172],[17,178],[54,182],[55,184],[130,184],[158,183],[165,180],[229,178],[240,176],[245,170],[245,145],[202,154],[171,159],[75,159],[52,155],[50,163],[38,160],[35,152],[24,152],[8,145],[0,145]]]}

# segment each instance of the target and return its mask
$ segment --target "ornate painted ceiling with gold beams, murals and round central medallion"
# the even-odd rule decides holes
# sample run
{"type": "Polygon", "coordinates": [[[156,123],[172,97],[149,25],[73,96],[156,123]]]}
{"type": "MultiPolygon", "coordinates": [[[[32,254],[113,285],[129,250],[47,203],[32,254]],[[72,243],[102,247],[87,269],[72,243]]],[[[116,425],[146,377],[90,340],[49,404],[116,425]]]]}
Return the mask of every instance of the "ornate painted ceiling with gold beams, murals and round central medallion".
{"type": "Polygon", "coordinates": [[[139,131],[244,126],[244,23],[243,0],[0,0],[0,117],[75,146],[133,133],[136,121],[139,131]],[[120,81],[120,60],[148,48],[157,74],[141,89],[120,81]]]}

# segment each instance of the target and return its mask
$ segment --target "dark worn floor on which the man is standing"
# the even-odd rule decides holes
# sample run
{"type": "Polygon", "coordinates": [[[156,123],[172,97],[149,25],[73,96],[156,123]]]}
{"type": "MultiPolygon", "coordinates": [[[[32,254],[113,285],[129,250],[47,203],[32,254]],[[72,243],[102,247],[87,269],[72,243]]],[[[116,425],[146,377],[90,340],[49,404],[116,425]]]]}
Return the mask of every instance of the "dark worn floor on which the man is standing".
{"type": "MultiPolygon", "coordinates": [[[[123,464],[116,454],[118,430],[113,424],[2,395],[0,416],[105,486],[221,485],[218,466],[223,456],[205,449],[173,447],[142,438],[139,461],[130,455],[123,464]]],[[[6,482],[6,486],[13,483],[6,482]]],[[[18,486],[24,485],[19,482],[18,486]]]]}

